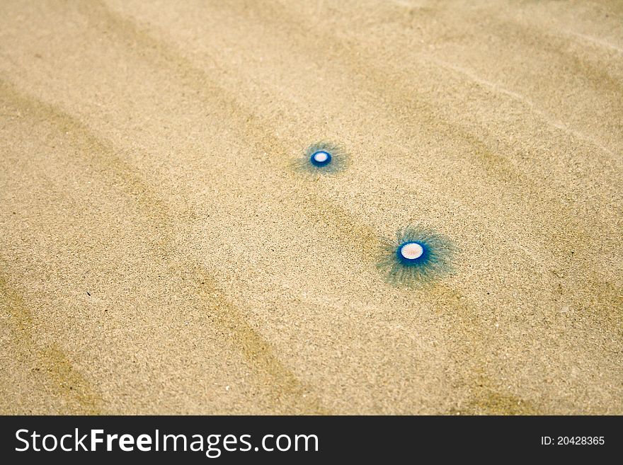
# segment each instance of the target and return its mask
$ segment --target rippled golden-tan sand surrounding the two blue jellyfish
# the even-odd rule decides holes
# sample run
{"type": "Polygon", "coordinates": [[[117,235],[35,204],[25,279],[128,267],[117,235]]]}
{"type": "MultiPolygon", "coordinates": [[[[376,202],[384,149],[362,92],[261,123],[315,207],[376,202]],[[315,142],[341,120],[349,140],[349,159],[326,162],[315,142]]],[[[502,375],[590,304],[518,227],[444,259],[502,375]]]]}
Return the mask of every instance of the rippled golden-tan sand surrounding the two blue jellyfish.
{"type": "Polygon", "coordinates": [[[617,1],[2,1],[0,413],[623,414],[622,115],[617,1]]]}

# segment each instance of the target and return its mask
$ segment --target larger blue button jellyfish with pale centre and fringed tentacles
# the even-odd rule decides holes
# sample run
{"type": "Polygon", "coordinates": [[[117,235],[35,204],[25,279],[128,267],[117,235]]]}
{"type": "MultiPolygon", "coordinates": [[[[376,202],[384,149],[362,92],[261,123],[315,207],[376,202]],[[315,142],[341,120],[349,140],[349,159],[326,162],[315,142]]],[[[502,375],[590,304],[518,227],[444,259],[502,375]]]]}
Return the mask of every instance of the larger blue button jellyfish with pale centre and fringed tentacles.
{"type": "Polygon", "coordinates": [[[442,234],[410,225],[383,240],[377,268],[393,285],[423,287],[452,272],[454,251],[442,234]]]}

